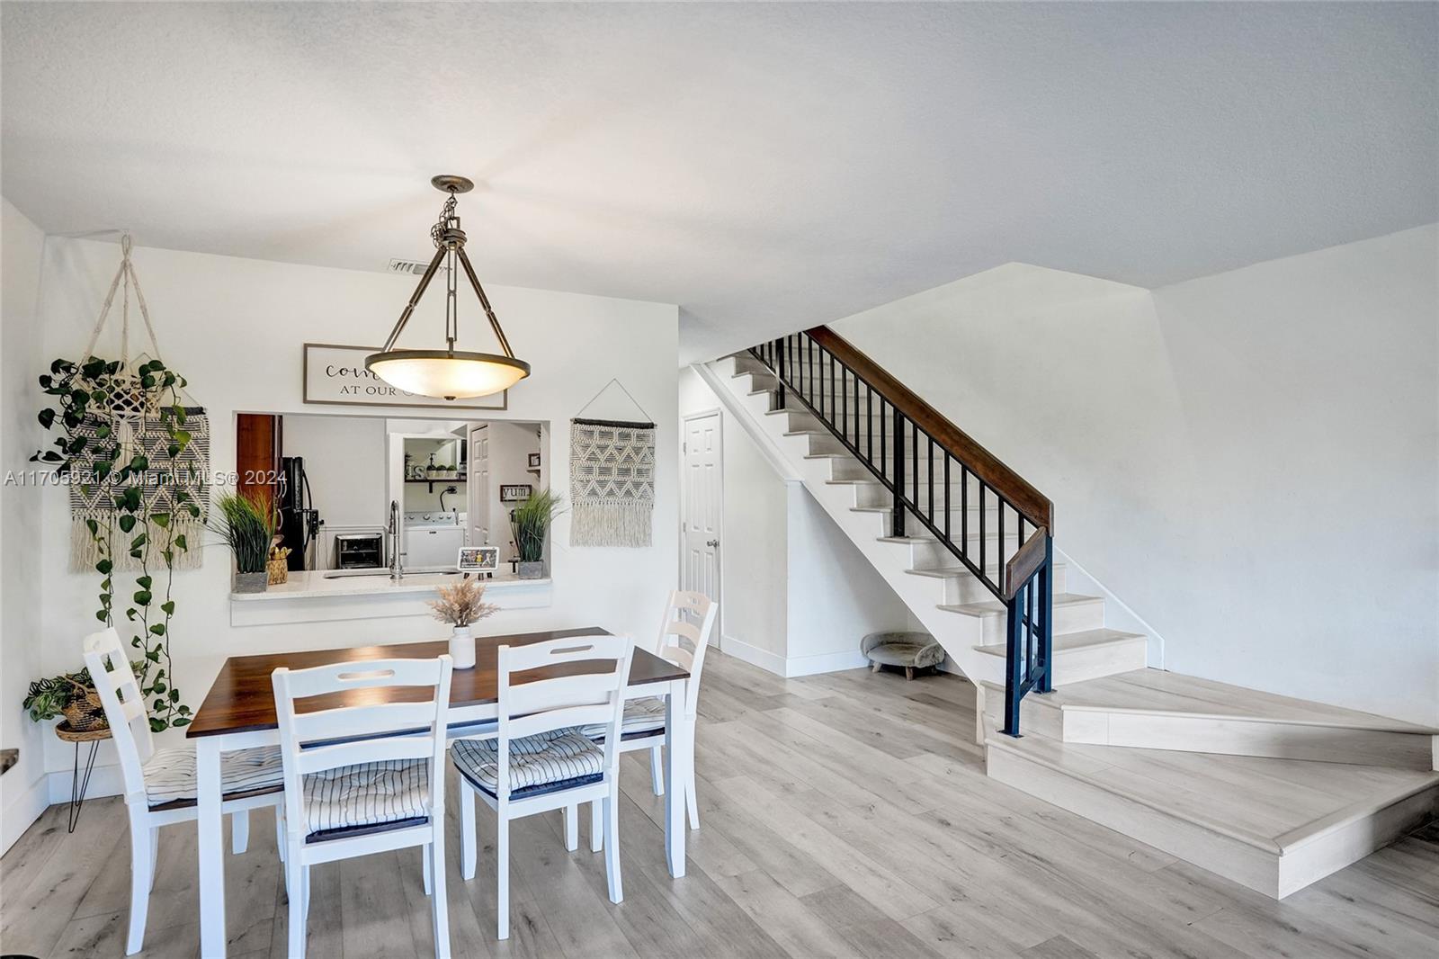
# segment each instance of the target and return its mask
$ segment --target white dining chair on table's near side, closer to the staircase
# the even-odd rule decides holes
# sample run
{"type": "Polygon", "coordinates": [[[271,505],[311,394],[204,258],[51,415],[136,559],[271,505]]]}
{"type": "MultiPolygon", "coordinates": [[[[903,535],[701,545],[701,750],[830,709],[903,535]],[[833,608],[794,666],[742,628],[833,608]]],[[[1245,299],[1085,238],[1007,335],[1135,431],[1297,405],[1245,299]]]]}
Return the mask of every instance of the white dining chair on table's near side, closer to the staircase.
{"type": "Polygon", "coordinates": [[[476,798],[495,811],[498,838],[498,935],[509,939],[509,822],[566,809],[566,845],[574,850],[581,802],[603,805],[609,854],[604,873],[612,903],[623,900],[619,857],[619,750],[597,746],[580,727],[600,723],[619,739],[633,641],[629,636],[567,636],[498,649],[498,734],[450,746],[460,773],[460,874],[475,877],[476,798]],[[560,670],[521,681],[532,670],[560,670]]]}

